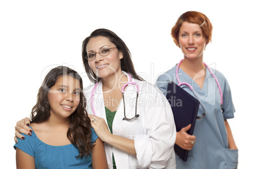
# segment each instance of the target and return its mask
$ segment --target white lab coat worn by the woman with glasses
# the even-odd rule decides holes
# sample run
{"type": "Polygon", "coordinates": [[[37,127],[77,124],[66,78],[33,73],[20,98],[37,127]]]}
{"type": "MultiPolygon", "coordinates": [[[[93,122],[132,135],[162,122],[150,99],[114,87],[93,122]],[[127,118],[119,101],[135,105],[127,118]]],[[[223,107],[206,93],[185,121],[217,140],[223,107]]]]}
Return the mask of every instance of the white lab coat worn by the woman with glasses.
{"type": "MultiPolygon", "coordinates": [[[[120,101],[113,120],[113,134],[134,140],[136,157],[104,143],[108,167],[113,168],[112,154],[117,168],[176,168],[174,142],[176,128],[173,112],[162,92],[150,83],[132,79],[139,85],[137,114],[134,121],[123,120],[124,101],[120,101]]],[[[103,84],[99,81],[93,97],[96,116],[104,118],[106,112],[103,100],[103,84]]],[[[85,89],[87,112],[93,114],[90,95],[94,85],[85,89]]],[[[136,87],[125,88],[125,111],[127,118],[134,117],[136,102],[136,87]]],[[[107,123],[107,122],[106,122],[107,123]]]]}

